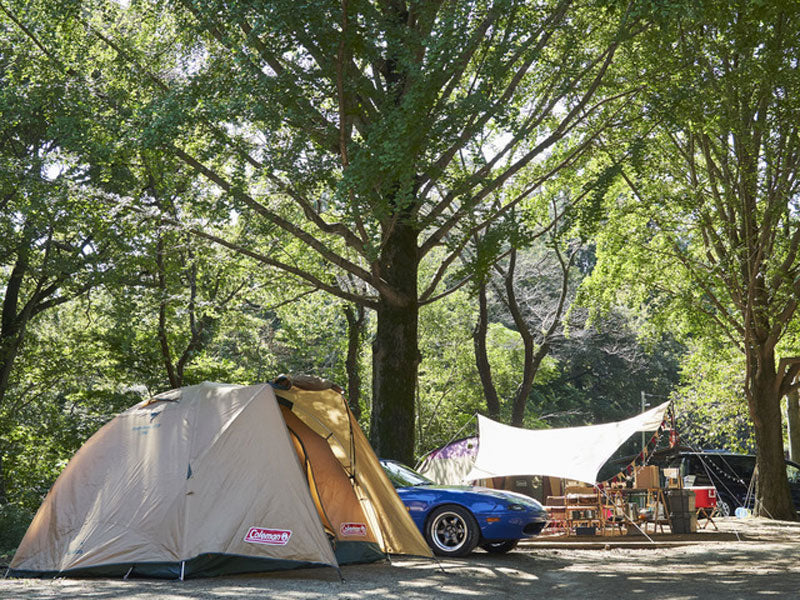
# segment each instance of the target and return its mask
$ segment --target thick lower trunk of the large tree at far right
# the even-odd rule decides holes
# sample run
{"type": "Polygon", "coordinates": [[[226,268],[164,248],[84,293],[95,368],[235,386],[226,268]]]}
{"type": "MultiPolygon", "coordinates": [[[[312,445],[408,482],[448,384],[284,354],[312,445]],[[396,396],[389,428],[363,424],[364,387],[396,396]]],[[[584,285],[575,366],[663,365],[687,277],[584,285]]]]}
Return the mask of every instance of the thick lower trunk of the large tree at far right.
{"type": "Polygon", "coordinates": [[[757,448],[755,514],[796,521],[784,463],[781,399],[777,392],[774,353],[771,349],[762,349],[756,364],[753,362],[754,357],[751,357],[748,404],[757,448]]]}

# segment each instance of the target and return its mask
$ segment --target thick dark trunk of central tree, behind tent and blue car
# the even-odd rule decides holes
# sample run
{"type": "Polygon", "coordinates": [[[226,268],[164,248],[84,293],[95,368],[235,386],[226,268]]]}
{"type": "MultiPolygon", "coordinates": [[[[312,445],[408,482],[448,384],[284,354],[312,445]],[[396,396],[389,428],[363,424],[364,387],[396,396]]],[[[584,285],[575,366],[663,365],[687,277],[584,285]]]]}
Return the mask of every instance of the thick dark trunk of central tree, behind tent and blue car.
{"type": "Polygon", "coordinates": [[[381,276],[394,294],[381,293],[372,345],[372,417],[375,452],[414,464],[414,391],[417,348],[417,232],[398,219],[390,226],[381,253],[381,276]]]}

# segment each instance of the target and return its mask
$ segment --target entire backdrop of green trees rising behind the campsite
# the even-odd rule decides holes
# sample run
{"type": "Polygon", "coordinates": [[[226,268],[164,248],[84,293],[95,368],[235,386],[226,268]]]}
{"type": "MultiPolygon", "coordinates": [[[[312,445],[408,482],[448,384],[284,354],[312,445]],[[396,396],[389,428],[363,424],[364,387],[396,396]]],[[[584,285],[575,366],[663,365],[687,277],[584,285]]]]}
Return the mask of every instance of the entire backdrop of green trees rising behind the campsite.
{"type": "Polygon", "coordinates": [[[0,506],[142,395],[312,371],[412,463],[671,396],[794,517],[799,14],[0,0],[0,506]]]}

